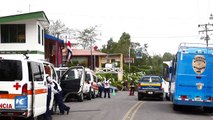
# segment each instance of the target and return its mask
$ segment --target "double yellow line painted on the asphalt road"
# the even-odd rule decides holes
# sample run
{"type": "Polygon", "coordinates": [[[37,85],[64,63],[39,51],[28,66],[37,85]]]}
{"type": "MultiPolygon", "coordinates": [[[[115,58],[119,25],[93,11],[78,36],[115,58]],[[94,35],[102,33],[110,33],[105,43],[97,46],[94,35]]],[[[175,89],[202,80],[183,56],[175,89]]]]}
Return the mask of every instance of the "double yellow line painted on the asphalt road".
{"type": "Polygon", "coordinates": [[[123,117],[122,120],[133,120],[134,117],[135,117],[135,114],[136,112],[138,111],[138,109],[141,107],[141,105],[143,104],[144,102],[142,101],[139,101],[137,102],[134,106],[132,106],[128,112],[125,114],[125,116],[123,117]]]}

